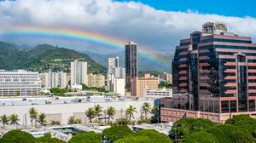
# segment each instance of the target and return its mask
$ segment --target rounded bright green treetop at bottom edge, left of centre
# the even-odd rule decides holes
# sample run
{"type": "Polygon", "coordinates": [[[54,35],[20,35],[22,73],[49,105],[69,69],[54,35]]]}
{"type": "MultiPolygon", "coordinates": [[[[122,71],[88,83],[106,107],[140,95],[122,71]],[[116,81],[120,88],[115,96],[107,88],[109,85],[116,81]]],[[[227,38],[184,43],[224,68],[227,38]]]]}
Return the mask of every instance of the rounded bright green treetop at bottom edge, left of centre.
{"type": "Polygon", "coordinates": [[[102,143],[102,134],[95,132],[84,132],[82,134],[74,135],[68,143],[102,143]]]}

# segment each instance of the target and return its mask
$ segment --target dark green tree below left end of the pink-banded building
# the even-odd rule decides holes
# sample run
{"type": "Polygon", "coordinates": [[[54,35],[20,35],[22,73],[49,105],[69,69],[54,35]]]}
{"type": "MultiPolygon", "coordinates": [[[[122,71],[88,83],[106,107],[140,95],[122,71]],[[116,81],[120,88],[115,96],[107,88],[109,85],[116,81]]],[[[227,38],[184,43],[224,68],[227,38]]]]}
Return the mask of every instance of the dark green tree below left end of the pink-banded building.
{"type": "Polygon", "coordinates": [[[185,135],[193,134],[202,129],[210,129],[215,123],[202,118],[185,117],[173,124],[171,137],[173,140],[182,139],[185,135]]]}

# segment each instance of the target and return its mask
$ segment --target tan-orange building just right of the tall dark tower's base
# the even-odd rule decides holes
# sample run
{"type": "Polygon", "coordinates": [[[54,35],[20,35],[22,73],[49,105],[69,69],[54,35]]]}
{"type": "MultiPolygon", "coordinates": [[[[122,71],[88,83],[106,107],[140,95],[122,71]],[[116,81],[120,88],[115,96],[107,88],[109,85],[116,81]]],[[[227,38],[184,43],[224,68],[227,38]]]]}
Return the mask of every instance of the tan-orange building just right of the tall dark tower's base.
{"type": "Polygon", "coordinates": [[[158,89],[158,77],[136,77],[131,81],[131,96],[143,96],[146,89],[158,89]]]}

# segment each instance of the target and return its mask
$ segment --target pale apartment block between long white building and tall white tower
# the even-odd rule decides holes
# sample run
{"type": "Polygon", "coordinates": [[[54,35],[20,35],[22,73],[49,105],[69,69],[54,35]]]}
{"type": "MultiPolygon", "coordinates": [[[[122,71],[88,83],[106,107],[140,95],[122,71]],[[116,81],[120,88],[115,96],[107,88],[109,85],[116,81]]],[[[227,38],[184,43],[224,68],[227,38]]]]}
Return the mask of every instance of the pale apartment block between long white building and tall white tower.
{"type": "Polygon", "coordinates": [[[41,83],[45,88],[66,88],[67,73],[66,72],[47,72],[41,73],[41,83]]]}

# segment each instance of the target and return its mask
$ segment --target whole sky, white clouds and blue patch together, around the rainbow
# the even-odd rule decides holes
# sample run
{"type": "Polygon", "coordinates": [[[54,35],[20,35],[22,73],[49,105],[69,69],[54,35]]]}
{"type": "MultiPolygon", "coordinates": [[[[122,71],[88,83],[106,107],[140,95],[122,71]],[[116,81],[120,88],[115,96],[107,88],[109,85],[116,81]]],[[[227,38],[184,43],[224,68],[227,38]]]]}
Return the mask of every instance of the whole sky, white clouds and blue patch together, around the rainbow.
{"type": "Polygon", "coordinates": [[[118,41],[135,41],[138,47],[152,53],[173,53],[180,39],[201,31],[205,22],[223,21],[228,31],[252,37],[256,43],[255,5],[254,0],[0,1],[0,40],[27,45],[50,43],[101,54],[120,50],[97,43],[4,34],[17,26],[61,27],[101,33],[118,41]]]}

